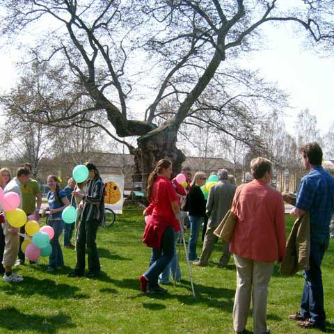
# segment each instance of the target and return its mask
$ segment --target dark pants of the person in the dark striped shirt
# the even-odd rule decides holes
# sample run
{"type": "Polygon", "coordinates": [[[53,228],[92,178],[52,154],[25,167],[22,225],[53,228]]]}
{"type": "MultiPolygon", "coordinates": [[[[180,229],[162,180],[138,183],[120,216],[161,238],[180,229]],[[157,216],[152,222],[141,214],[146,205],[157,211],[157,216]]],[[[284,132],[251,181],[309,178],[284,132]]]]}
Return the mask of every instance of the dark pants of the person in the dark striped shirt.
{"type": "Polygon", "coordinates": [[[74,269],[76,273],[81,275],[84,274],[86,244],[88,253],[88,270],[95,274],[99,274],[101,271],[100,258],[97,253],[97,246],[95,242],[98,227],[99,222],[97,220],[81,221],[79,223],[79,232],[76,244],[77,266],[74,269]]]}

